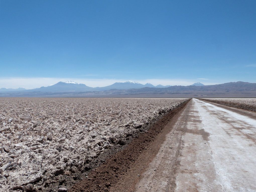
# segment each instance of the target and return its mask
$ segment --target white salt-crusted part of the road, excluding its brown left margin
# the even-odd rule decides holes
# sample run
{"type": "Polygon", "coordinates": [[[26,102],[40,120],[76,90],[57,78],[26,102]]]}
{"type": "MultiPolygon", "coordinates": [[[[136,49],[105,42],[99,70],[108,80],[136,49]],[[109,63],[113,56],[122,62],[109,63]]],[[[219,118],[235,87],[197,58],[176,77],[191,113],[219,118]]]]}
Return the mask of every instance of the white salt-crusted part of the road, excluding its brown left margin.
{"type": "Polygon", "coordinates": [[[210,136],[185,134],[176,191],[256,191],[256,120],[197,99],[190,110],[187,128],[210,136]]]}

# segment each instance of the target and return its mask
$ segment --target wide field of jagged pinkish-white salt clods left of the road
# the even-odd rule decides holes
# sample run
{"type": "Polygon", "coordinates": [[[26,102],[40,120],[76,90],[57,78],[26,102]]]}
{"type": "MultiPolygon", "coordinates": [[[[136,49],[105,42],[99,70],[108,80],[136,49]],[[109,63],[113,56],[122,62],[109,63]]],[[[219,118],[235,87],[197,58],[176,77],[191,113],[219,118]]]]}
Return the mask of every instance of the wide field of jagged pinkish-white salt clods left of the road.
{"type": "MultiPolygon", "coordinates": [[[[0,188],[56,191],[185,99],[1,98],[0,188]]],[[[70,184],[70,185],[71,185],[70,184]]]]}

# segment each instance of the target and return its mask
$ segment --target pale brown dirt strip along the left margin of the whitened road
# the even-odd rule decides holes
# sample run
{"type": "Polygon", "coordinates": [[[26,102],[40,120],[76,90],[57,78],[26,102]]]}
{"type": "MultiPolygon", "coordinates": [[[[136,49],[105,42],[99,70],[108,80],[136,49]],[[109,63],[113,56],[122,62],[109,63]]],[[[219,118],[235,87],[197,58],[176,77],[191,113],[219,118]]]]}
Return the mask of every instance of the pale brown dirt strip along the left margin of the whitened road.
{"type": "MultiPolygon", "coordinates": [[[[183,138],[187,133],[187,120],[190,119],[191,102],[165,125],[164,130],[170,130],[164,138],[157,154],[153,157],[133,191],[175,191],[176,174],[180,167],[181,153],[184,148],[183,138]]],[[[194,119],[193,119],[194,121],[194,119]]],[[[205,133],[195,131],[202,136],[205,133]]]]}

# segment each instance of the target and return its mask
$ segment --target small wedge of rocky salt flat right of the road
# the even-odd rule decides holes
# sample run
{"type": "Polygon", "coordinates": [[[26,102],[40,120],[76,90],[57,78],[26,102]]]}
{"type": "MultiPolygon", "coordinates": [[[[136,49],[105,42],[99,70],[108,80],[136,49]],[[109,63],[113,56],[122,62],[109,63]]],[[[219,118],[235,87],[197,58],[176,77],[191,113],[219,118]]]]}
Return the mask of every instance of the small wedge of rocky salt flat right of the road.
{"type": "Polygon", "coordinates": [[[201,98],[205,101],[210,101],[230,107],[246,109],[256,112],[256,98],[201,98]]]}

